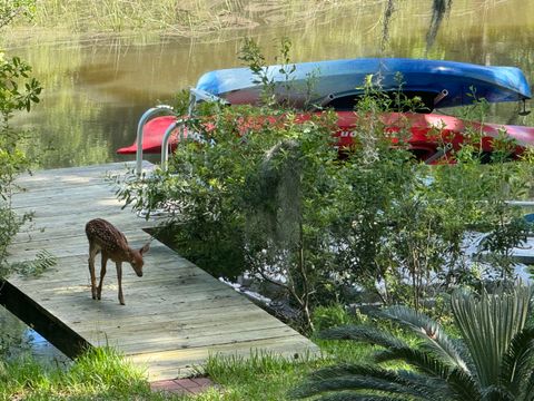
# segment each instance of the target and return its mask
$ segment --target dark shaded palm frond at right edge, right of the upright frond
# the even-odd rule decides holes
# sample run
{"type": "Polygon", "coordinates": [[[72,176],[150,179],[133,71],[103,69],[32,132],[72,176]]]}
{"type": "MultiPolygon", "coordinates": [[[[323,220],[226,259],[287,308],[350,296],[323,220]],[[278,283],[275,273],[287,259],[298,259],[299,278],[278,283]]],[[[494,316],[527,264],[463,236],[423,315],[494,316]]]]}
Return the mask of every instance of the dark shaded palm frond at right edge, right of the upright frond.
{"type": "Polygon", "coordinates": [[[510,343],[501,366],[501,384],[520,397],[521,388],[534,371],[534,327],[523,329],[510,343]]]}

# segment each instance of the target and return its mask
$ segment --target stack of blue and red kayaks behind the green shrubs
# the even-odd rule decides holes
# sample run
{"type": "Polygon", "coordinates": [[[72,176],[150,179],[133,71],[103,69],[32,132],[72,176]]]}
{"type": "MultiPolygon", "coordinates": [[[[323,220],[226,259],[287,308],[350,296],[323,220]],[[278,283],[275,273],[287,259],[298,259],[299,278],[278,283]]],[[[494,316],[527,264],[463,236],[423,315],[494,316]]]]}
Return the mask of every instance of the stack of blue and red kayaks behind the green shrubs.
{"type": "MultiPolygon", "coordinates": [[[[350,111],[366,90],[365,82],[386,94],[402,92],[417,97],[424,107],[418,113],[386,113],[382,116],[386,129],[395,131],[406,124],[414,154],[422,160],[434,160],[444,139],[451,148],[458,148],[467,123],[446,115],[432,113],[435,108],[459,107],[484,98],[488,102],[525,101],[532,94],[525,76],[515,67],[478,66],[465,62],[417,59],[348,59],[303,62],[294,66],[264,67],[261,75],[271,82],[276,99],[301,109],[300,118],[310,116],[310,105],[333,108],[337,113],[337,131],[340,146],[350,146],[357,117],[350,111]],[[287,70],[290,70],[289,79],[287,70]],[[309,88],[313,81],[313,88],[309,88]],[[439,138],[436,138],[436,130],[439,138]]],[[[220,99],[229,105],[256,105],[261,99],[263,86],[257,75],[248,68],[231,68],[207,72],[200,77],[192,94],[199,102],[220,99]]],[[[186,117],[187,118],[187,117],[186,117]]],[[[175,116],[161,116],[148,120],[142,127],[142,151],[160,153],[167,128],[176,123],[175,116]]],[[[473,125],[473,124],[469,124],[473,125]]],[[[475,124],[476,125],[476,124],[475,124]]],[[[506,133],[517,143],[516,155],[525,146],[534,146],[534,127],[478,124],[484,133],[482,148],[492,151],[492,139],[506,133]]],[[[187,137],[188,133],[181,133],[187,137]]],[[[191,133],[192,134],[192,133],[191,133]]],[[[178,136],[170,138],[170,149],[178,136]]],[[[134,145],[118,149],[119,154],[136,154],[134,145]]]]}

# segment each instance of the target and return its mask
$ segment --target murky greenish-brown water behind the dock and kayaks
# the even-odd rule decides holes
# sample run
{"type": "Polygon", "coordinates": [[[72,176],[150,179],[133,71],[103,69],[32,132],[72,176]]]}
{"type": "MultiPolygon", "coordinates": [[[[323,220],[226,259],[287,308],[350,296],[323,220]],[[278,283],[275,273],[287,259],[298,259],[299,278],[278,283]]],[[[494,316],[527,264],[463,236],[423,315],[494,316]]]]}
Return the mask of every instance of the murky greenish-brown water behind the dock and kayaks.
{"type": "MultiPolygon", "coordinates": [[[[46,168],[123,160],[115,149],[130,144],[142,111],[194,86],[208,70],[239,65],[240,40],[257,38],[273,60],[276,39],[288,36],[293,59],[427,57],[521,67],[534,82],[534,1],[454,0],[435,43],[426,49],[429,0],[397,1],[383,50],[385,1],[338,8],[318,20],[290,28],[263,27],[185,40],[122,38],[55,42],[33,38],[10,52],[27,59],[42,81],[42,102],[18,124],[31,130],[30,154],[46,168]]],[[[511,107],[495,119],[534,125],[532,115],[515,118],[511,107]]]]}

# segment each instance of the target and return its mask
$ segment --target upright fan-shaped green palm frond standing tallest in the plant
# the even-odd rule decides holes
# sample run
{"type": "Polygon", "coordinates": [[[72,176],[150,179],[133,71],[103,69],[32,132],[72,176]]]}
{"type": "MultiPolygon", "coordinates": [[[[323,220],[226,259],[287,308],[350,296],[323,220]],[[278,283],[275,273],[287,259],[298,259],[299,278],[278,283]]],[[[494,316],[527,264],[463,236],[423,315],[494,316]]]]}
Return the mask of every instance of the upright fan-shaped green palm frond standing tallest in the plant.
{"type": "Polygon", "coordinates": [[[525,325],[531,288],[516,286],[479,300],[466,291],[453,293],[453,314],[476,366],[483,388],[500,382],[501,362],[512,338],[525,325]]]}

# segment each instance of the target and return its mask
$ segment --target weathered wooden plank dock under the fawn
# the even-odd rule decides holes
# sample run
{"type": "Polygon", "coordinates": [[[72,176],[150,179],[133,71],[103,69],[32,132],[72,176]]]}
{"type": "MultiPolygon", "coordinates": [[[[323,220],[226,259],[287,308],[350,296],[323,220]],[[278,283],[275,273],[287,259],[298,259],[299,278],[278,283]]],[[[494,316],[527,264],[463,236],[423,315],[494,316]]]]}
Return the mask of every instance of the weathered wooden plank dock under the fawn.
{"type": "Polygon", "coordinates": [[[37,278],[10,277],[0,290],[1,304],[67,355],[111,345],[146,366],[151,381],[187,376],[209,354],[303,358],[317,351],[306,338],[158,241],[146,255],[144,277],[123,265],[126,306],[117,300],[111,261],[102,300],[93,301],[85,224],[106,218],[136,246],[149,239],[142,228],[152,225],[121,209],[106,183],[106,173],[123,168],[108,164],[53,169],[19,179],[27,190],[14,195],[13,207],[34,217],[17,235],[9,261],[32,261],[46,250],[57,264],[37,278]]]}

